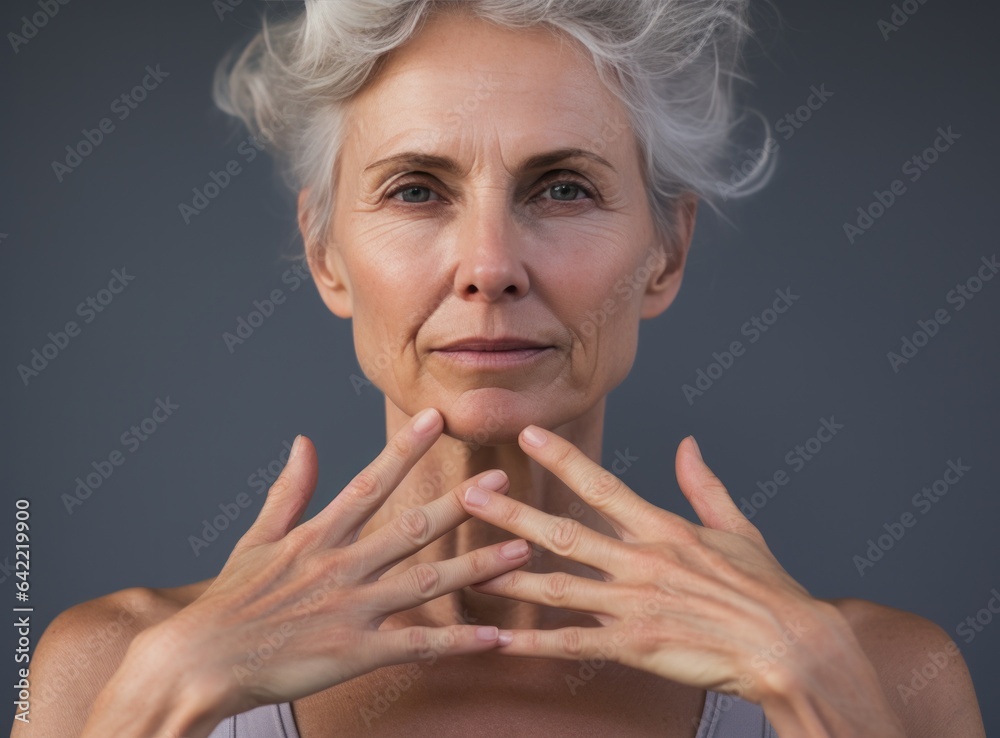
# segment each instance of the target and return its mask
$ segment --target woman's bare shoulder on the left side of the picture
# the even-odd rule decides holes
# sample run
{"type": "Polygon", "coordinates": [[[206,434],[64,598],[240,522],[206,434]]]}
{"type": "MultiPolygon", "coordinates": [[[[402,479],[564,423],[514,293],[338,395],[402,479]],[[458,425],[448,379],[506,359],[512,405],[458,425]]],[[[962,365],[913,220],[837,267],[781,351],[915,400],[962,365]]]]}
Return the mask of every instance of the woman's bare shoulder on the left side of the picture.
{"type": "Polygon", "coordinates": [[[135,637],[189,604],[210,583],[129,587],[59,613],[28,664],[30,722],[15,720],[11,738],[79,735],[91,705],[135,637]]]}

